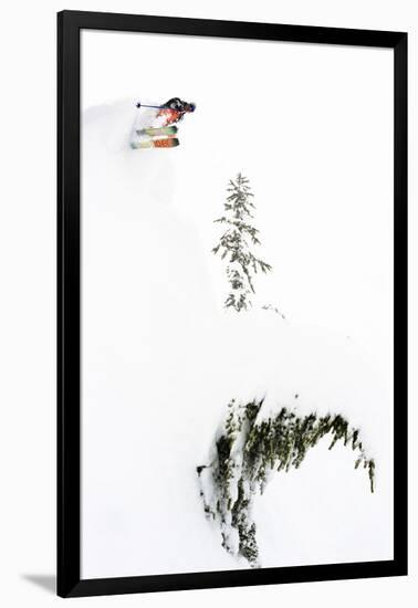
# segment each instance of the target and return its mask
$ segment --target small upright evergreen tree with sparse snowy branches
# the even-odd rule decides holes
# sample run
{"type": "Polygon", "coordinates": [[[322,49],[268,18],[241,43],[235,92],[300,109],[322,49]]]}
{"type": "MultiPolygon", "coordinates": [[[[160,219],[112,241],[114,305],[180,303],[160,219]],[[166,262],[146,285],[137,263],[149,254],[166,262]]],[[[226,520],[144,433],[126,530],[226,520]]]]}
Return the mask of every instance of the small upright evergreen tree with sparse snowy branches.
{"type": "Polygon", "coordinates": [[[251,294],[255,293],[254,274],[259,270],[267,273],[271,265],[257,258],[252,251],[254,245],[260,245],[259,230],[252,226],[255,209],[252,202],[249,180],[238,174],[236,180],[229,181],[229,196],[223,205],[226,213],[215,222],[226,226],[226,230],[219,239],[219,243],[212,252],[221,255],[227,261],[227,279],[230,292],[224,301],[224,307],[232,307],[240,312],[251,306],[251,294]]]}

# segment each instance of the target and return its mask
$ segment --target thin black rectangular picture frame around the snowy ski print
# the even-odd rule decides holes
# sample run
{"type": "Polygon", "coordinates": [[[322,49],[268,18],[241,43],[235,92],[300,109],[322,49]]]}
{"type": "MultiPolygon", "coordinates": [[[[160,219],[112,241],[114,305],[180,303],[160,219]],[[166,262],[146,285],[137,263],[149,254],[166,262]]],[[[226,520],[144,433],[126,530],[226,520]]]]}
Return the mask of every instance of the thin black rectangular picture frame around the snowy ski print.
{"type": "Polygon", "coordinates": [[[58,14],[58,595],[79,597],[407,574],[407,33],[63,11],[58,14]],[[81,579],[80,575],[80,32],[379,46],[394,50],[394,559],[81,579]]]}

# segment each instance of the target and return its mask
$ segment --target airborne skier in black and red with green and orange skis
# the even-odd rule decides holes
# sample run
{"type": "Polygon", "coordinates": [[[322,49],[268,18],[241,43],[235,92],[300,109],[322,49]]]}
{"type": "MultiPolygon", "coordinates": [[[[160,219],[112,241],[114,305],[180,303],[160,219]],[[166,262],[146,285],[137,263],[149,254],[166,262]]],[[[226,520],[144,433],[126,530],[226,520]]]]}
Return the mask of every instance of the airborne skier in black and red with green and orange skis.
{"type": "Polygon", "coordinates": [[[174,148],[179,145],[177,126],[186,114],[195,112],[196,105],[173,97],[163,105],[148,105],[138,102],[136,107],[143,114],[140,128],[135,128],[130,146],[137,148],[174,148]]]}

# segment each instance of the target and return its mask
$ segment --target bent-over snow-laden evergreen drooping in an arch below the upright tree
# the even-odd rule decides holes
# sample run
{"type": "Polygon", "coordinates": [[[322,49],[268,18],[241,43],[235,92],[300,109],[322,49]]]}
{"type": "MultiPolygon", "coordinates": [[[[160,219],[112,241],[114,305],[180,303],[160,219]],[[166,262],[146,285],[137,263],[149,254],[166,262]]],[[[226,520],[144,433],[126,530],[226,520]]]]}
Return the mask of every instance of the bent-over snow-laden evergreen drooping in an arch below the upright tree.
{"type": "Polygon", "coordinates": [[[338,442],[353,450],[354,468],[366,470],[370,491],[375,490],[375,461],[366,454],[359,429],[342,415],[300,416],[292,407],[279,407],[275,416],[263,417],[262,405],[263,399],[232,399],[209,463],[196,468],[205,514],[219,525],[222,547],[251,567],[260,566],[254,497],[263,494],[274,472],[299,469],[322,439],[331,440],[330,450],[338,442]]]}

